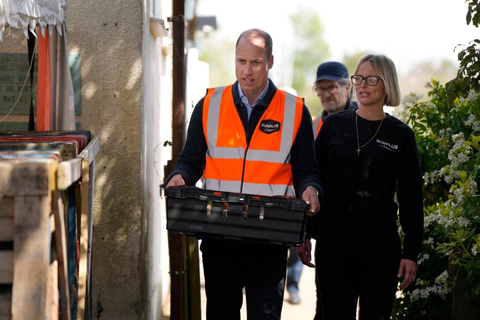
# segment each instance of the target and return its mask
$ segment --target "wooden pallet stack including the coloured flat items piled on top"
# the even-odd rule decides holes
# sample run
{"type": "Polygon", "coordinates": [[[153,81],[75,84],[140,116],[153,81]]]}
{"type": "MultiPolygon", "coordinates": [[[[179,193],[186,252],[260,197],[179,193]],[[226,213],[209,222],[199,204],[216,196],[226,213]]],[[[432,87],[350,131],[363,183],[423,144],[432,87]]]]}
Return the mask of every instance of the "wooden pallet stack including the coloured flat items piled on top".
{"type": "Polygon", "coordinates": [[[0,319],[90,318],[98,137],[0,132],[0,319]]]}

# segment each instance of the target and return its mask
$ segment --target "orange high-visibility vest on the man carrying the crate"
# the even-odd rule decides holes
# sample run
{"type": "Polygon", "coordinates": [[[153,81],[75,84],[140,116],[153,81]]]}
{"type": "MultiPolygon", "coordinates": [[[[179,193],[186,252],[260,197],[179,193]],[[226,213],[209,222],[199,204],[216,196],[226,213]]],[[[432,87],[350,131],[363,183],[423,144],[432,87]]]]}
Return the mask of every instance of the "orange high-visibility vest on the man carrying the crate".
{"type": "Polygon", "coordinates": [[[290,149],[300,126],[302,99],[277,89],[247,144],[231,89],[232,85],[210,88],[203,100],[203,188],[295,195],[290,149]]]}

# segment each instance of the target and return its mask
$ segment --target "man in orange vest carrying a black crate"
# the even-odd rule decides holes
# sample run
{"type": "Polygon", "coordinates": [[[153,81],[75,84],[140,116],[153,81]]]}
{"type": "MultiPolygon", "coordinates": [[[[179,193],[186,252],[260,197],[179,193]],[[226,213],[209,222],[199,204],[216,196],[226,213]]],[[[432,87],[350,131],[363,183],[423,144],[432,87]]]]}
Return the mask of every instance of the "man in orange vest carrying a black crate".
{"type": "MultiPolygon", "coordinates": [[[[235,83],[208,89],[196,104],[186,142],[166,187],[194,185],[258,195],[288,195],[320,207],[311,116],[302,98],[275,87],[272,39],[243,31],[235,49],[235,83]]],[[[245,289],[249,320],[279,319],[288,247],[241,240],[201,241],[208,320],[239,320],[245,289]]],[[[311,259],[311,257],[308,257],[311,259]]]]}

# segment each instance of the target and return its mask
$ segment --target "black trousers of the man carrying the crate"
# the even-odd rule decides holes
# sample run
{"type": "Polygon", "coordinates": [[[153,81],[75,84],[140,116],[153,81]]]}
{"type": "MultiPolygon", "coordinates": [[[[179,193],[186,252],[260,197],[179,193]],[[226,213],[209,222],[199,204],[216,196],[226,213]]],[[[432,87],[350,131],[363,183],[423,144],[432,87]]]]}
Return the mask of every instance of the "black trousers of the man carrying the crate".
{"type": "Polygon", "coordinates": [[[287,247],[203,239],[207,320],[240,320],[245,288],[248,320],[280,319],[287,247]]]}

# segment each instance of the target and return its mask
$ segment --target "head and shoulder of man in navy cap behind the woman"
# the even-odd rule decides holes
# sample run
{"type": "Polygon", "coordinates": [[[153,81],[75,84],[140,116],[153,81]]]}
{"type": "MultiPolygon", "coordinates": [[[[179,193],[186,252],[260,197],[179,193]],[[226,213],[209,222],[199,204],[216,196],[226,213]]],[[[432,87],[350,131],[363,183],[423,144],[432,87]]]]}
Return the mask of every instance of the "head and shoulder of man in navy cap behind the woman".
{"type": "Polygon", "coordinates": [[[350,78],[346,66],[340,62],[328,61],[320,64],[316,70],[316,80],[313,85],[316,95],[321,100],[323,112],[313,121],[313,135],[318,135],[323,119],[330,113],[346,109],[354,109],[356,102],[348,98],[350,78]]]}

